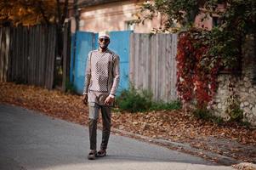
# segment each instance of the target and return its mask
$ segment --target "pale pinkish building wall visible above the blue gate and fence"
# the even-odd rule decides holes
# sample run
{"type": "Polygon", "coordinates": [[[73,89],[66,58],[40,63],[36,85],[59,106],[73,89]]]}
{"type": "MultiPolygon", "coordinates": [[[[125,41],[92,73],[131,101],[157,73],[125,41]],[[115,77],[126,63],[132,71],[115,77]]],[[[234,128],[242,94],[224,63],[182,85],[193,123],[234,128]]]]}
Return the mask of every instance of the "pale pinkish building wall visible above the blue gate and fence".
{"type": "MultiPolygon", "coordinates": [[[[81,11],[80,31],[129,30],[128,22],[137,19],[135,14],[139,12],[140,4],[125,1],[86,8],[81,11]]],[[[144,25],[135,25],[132,30],[138,33],[150,32],[152,28],[160,24],[161,16],[158,16],[152,21],[146,21],[144,25]]]]}

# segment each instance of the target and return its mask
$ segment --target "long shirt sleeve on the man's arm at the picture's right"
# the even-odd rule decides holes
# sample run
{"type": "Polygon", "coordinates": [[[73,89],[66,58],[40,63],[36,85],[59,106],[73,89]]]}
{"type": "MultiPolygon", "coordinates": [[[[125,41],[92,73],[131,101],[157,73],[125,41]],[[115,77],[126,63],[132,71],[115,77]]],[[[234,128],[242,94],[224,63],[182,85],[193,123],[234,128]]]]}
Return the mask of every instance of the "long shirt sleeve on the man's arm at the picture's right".
{"type": "Polygon", "coordinates": [[[117,54],[114,55],[113,59],[113,67],[112,67],[112,73],[113,73],[113,84],[111,87],[111,95],[116,95],[117,88],[120,80],[120,65],[119,65],[119,56],[117,54]]]}

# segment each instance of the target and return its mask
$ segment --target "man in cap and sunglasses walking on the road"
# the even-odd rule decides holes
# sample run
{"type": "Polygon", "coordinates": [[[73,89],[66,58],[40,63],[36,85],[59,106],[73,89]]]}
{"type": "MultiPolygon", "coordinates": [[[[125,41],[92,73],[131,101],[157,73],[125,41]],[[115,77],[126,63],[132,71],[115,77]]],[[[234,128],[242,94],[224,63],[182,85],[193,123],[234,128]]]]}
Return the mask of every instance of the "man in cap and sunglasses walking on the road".
{"type": "Polygon", "coordinates": [[[82,100],[88,103],[89,110],[89,160],[106,155],[106,148],[111,133],[111,106],[119,83],[119,56],[108,49],[110,43],[108,31],[99,33],[99,49],[88,54],[86,79],[82,100]],[[96,151],[97,120],[101,112],[103,129],[100,150],[96,151]]]}

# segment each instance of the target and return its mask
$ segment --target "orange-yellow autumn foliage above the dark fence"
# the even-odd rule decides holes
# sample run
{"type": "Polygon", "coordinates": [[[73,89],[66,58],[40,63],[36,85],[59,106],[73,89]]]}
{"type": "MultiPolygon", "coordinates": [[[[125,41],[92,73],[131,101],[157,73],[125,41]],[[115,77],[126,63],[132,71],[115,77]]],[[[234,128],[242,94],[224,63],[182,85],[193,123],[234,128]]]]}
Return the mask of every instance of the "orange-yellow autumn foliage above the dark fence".
{"type": "MultiPolygon", "coordinates": [[[[60,13],[64,3],[60,3],[60,13]]],[[[57,0],[1,0],[0,26],[33,26],[54,23],[58,18],[57,0]]]]}

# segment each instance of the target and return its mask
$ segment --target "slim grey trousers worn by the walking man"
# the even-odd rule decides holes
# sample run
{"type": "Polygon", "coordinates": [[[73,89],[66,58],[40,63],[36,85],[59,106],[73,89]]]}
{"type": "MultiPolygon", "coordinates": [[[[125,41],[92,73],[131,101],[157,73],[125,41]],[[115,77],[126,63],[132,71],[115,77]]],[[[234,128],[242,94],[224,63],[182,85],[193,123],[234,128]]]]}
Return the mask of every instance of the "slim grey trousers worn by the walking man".
{"type": "Polygon", "coordinates": [[[90,150],[96,150],[97,148],[97,122],[99,118],[99,112],[102,116],[102,141],[100,149],[105,150],[110,138],[111,133],[111,107],[104,105],[97,105],[95,103],[89,103],[89,140],[90,150]]]}

